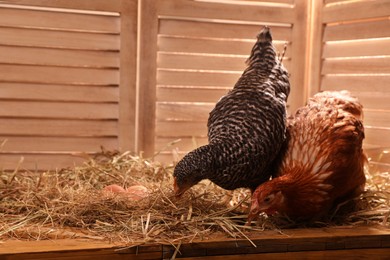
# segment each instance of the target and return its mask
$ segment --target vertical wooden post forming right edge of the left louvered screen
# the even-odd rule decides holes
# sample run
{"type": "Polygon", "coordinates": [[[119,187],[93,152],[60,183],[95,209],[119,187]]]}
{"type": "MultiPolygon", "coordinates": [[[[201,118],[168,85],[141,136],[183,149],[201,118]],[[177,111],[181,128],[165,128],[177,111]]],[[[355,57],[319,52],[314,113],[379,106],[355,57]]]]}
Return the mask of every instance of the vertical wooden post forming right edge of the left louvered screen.
{"type": "Polygon", "coordinates": [[[119,76],[119,149],[136,151],[138,1],[122,1],[119,76]]]}

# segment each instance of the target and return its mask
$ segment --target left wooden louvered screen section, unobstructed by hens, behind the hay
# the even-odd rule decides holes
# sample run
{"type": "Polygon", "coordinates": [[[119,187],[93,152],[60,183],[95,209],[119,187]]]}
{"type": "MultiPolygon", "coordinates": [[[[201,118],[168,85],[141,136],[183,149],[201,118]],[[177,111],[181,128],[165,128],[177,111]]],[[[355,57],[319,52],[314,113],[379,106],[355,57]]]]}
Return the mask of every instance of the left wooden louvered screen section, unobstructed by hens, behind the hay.
{"type": "Polygon", "coordinates": [[[134,150],[136,1],[15,2],[0,4],[1,168],[134,150]]]}

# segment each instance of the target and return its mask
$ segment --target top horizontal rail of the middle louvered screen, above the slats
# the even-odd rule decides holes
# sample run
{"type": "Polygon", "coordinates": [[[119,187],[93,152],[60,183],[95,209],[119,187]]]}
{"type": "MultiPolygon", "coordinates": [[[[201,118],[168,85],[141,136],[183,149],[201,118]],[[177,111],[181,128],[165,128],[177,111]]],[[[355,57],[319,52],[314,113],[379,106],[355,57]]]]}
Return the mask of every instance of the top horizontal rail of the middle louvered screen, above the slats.
{"type": "Polygon", "coordinates": [[[226,5],[188,0],[159,1],[158,14],[168,17],[221,19],[292,23],[294,9],[290,6],[226,5]],[[245,15],[243,15],[245,14],[245,15]]]}

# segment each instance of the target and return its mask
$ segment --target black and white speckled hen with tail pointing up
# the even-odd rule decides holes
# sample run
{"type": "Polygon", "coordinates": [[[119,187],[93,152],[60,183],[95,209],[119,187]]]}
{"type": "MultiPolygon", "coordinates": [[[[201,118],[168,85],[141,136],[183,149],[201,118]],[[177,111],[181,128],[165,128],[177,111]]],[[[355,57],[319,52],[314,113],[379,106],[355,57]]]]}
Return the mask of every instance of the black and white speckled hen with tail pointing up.
{"type": "Polygon", "coordinates": [[[285,140],[290,84],[268,27],[257,36],[247,65],[209,115],[209,144],[176,165],[177,196],[203,179],[227,190],[254,190],[270,178],[272,161],[285,140]]]}

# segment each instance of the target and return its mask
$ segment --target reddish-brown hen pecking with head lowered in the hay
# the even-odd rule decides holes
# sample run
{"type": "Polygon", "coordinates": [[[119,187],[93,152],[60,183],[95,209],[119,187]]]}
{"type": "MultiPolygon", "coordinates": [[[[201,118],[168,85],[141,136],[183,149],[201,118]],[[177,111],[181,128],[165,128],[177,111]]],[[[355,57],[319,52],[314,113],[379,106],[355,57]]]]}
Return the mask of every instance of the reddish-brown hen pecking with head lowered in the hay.
{"type": "Polygon", "coordinates": [[[252,196],[248,223],[265,212],[294,220],[320,219],[362,193],[362,105],[349,92],[322,92],[288,122],[288,140],[275,178],[252,196]]]}

